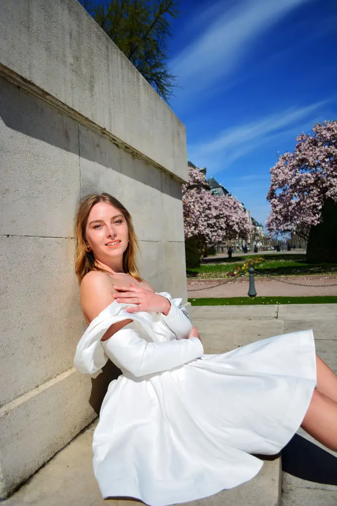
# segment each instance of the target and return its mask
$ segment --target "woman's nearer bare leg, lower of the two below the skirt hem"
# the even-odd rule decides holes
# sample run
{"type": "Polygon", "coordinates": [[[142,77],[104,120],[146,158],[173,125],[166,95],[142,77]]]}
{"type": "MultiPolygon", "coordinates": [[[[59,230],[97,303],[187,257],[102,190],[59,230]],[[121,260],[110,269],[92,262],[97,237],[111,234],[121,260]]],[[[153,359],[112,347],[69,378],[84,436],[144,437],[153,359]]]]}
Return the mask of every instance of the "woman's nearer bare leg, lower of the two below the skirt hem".
{"type": "Polygon", "coordinates": [[[301,427],[324,446],[337,451],[337,402],[315,389],[301,427]]]}

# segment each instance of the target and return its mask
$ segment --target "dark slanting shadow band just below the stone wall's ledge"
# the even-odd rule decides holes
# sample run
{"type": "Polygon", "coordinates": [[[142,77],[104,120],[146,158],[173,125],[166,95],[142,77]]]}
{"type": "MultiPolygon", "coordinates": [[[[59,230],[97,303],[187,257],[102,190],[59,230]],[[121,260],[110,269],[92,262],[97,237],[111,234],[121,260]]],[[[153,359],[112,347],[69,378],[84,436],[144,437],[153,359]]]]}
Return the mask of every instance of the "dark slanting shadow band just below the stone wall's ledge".
{"type": "MultiPolygon", "coordinates": [[[[109,138],[90,130],[76,119],[4,78],[0,78],[0,118],[9,129],[106,168],[113,168],[117,173],[181,200],[180,183],[174,181],[176,184],[173,187],[162,185],[158,168],[139,160],[131,152],[119,148],[109,138]],[[91,142],[88,143],[88,139],[91,142]],[[127,155],[128,162],[123,162],[122,154],[127,155]]],[[[85,118],[83,120],[85,121],[85,118]]],[[[85,179],[85,174],[82,177],[85,179]]]]}

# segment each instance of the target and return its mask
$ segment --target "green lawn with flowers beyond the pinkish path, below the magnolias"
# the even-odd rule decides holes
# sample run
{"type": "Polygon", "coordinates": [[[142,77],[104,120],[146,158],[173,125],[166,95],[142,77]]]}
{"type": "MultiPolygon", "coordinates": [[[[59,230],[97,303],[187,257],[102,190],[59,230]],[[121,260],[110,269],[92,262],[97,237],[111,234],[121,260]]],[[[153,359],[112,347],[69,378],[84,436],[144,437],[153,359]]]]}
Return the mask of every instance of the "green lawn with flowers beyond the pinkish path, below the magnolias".
{"type": "MultiPolygon", "coordinates": [[[[187,269],[188,278],[223,278],[227,272],[232,272],[237,265],[243,265],[248,259],[254,259],[259,255],[247,255],[232,259],[224,258],[219,261],[207,261],[200,267],[187,269]]],[[[270,276],[300,276],[307,274],[336,274],[337,264],[308,264],[305,255],[301,254],[271,254],[265,255],[265,262],[255,266],[257,271],[270,276]]],[[[217,259],[218,260],[218,259],[217,259]]],[[[257,274],[258,275],[258,274],[257,274]]]]}

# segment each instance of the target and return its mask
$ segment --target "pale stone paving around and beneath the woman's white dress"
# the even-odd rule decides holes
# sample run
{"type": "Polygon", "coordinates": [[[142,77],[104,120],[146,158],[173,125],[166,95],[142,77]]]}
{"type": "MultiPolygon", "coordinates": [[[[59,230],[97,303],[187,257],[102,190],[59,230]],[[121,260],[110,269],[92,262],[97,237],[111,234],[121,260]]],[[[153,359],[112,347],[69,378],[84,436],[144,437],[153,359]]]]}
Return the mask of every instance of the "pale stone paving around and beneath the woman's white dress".
{"type": "MultiPolygon", "coordinates": [[[[191,308],[191,317],[200,330],[205,353],[221,353],[271,335],[313,328],[317,352],[337,372],[337,304],[196,306],[191,308]]],[[[91,465],[93,427],[2,505],[139,506],[134,500],[101,498],[91,465]]],[[[301,432],[283,453],[282,506],[336,506],[337,455],[301,432]]],[[[279,458],[266,459],[253,480],[184,506],[279,506],[279,465],[279,458]]]]}

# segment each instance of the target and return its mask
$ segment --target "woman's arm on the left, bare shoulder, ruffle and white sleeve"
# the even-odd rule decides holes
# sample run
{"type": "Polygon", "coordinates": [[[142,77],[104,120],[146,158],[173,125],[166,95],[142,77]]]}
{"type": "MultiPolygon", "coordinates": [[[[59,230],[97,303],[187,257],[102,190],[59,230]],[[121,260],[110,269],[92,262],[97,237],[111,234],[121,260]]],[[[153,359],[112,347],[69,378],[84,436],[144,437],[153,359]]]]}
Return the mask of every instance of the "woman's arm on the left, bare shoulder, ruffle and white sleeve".
{"type": "MultiPolygon", "coordinates": [[[[81,303],[88,323],[114,302],[111,284],[106,283],[105,275],[99,272],[92,274],[95,275],[90,276],[91,279],[83,278],[81,284],[81,303]]],[[[113,319],[110,315],[110,322],[113,319]]],[[[134,329],[125,327],[130,322],[132,319],[129,318],[115,321],[111,325],[108,321],[105,327],[102,320],[91,331],[89,327],[77,346],[75,367],[81,372],[92,374],[102,368],[109,357],[117,366],[141,376],[178,367],[204,354],[197,331],[191,332],[191,339],[184,342],[174,340],[148,343],[134,329]],[[120,328],[121,325],[124,328],[120,328]],[[100,335],[95,339],[97,333],[100,335]]]]}

